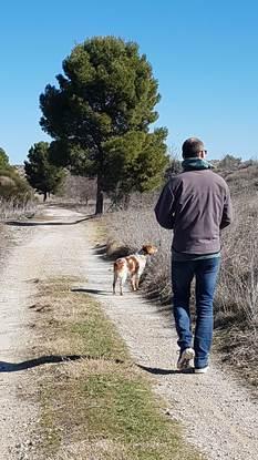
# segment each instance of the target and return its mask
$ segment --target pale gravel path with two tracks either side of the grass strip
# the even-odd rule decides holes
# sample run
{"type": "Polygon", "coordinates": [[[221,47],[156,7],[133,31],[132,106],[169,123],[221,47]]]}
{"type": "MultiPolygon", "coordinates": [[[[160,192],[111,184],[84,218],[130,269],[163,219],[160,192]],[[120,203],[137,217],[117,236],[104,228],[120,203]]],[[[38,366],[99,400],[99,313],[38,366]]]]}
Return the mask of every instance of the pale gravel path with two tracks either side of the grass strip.
{"type": "Polygon", "coordinates": [[[92,249],[91,222],[73,224],[83,216],[55,207],[45,213],[50,221],[44,225],[14,228],[19,244],[0,274],[0,459],[37,459],[30,432],[39,420],[38,408],[17,392],[19,386],[33,385],[33,369],[18,365],[30,359],[27,347],[33,344],[29,306],[38,278],[74,275],[85,279],[76,287],[103,304],[135,362],[152,372],[155,390],[166,398],[171,416],[184,423],[187,439],[211,460],[257,459],[257,401],[215,362],[207,375],[175,372],[171,321],[140,296],[112,296],[111,264],[92,249]]]}

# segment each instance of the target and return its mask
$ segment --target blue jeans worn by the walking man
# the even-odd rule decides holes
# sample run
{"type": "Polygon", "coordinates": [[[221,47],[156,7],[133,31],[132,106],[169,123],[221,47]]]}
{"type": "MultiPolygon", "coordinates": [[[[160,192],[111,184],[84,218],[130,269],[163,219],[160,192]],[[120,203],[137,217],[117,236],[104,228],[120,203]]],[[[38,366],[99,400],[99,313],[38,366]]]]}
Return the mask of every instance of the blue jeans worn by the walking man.
{"type": "Polygon", "coordinates": [[[220,258],[199,260],[172,260],[173,304],[178,346],[180,350],[193,347],[192,318],[189,310],[190,284],[195,276],[196,327],[194,335],[195,367],[208,364],[213,341],[213,299],[220,258]]]}

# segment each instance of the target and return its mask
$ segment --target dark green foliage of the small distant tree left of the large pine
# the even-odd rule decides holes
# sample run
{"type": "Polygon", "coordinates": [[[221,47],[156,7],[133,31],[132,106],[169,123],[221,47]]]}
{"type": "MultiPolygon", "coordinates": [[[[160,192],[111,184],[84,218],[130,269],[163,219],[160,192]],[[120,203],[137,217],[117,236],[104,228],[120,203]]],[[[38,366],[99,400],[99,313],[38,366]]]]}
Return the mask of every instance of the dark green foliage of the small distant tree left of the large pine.
{"type": "Polygon", "coordinates": [[[44,194],[55,193],[64,178],[61,167],[49,161],[49,143],[38,142],[29,151],[29,162],[24,162],[25,175],[33,188],[44,194]]]}

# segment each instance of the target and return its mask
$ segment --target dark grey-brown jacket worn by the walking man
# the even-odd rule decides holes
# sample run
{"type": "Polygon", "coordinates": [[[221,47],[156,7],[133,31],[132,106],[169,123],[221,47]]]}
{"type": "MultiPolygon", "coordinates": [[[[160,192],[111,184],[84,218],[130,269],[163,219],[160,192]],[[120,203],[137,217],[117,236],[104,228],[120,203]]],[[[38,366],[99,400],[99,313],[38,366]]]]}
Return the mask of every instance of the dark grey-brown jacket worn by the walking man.
{"type": "Polygon", "coordinates": [[[210,170],[185,171],[165,185],[155,214],[162,227],[174,229],[176,252],[217,253],[220,229],[231,222],[228,186],[210,170]]]}

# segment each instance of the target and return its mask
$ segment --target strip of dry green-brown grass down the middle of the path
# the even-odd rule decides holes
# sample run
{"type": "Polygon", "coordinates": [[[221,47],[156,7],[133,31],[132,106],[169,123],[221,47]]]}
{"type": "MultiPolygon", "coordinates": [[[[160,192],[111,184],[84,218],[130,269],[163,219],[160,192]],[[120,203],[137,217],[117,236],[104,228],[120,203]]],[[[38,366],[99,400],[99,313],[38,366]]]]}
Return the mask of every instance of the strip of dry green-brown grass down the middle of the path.
{"type": "Polygon", "coordinates": [[[31,306],[40,317],[33,352],[49,362],[61,358],[38,368],[34,393],[28,395],[41,405],[43,458],[203,458],[182,442],[179,426],[152,395],[151,378],[132,364],[100,305],[76,292],[74,280],[55,279],[39,288],[31,306]]]}

